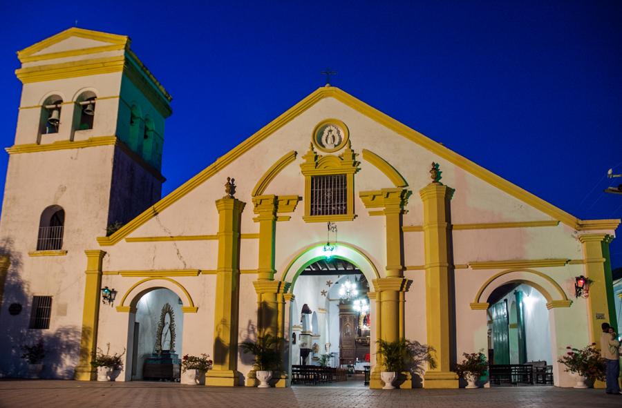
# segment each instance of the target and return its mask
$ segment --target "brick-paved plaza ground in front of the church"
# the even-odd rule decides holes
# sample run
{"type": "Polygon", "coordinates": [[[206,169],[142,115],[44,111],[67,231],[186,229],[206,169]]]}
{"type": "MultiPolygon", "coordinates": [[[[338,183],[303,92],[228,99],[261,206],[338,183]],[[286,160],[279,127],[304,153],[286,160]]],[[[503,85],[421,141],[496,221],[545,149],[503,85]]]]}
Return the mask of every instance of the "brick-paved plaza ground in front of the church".
{"type": "Polygon", "coordinates": [[[622,407],[601,389],[504,387],[370,390],[357,387],[211,388],[158,382],[0,381],[1,408],[165,407],[622,407]]]}

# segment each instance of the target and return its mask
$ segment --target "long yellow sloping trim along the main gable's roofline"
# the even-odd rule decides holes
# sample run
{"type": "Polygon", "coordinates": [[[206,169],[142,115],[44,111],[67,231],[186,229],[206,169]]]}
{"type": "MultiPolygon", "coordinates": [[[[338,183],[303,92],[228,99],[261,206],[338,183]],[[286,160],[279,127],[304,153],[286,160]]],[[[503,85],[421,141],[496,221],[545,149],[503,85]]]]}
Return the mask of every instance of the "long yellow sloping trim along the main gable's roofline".
{"type": "MultiPolygon", "coordinates": [[[[501,191],[505,191],[505,193],[516,197],[518,200],[521,200],[522,202],[525,202],[530,206],[537,208],[543,213],[550,215],[555,220],[563,222],[564,224],[567,224],[575,229],[583,228],[582,223],[585,223],[585,221],[578,220],[578,218],[574,217],[574,215],[566,213],[565,211],[554,206],[553,204],[550,204],[549,202],[546,202],[540,197],[537,197],[536,195],[533,195],[528,191],[523,190],[515,184],[508,182],[506,179],[503,179],[502,177],[499,177],[491,171],[488,171],[482,166],[471,162],[469,159],[466,159],[466,157],[462,157],[458,153],[455,153],[449,148],[446,148],[442,144],[439,144],[438,142],[435,142],[429,137],[422,135],[416,130],[411,129],[400,122],[397,122],[397,120],[393,119],[392,117],[381,113],[379,110],[372,108],[368,104],[360,101],[359,99],[344,92],[343,90],[335,88],[334,86],[322,86],[321,88],[315,90],[313,93],[299,101],[299,103],[292,106],[292,108],[286,110],[281,116],[277,117],[272,122],[258,130],[257,133],[245,139],[241,144],[238,144],[238,146],[236,146],[232,150],[229,150],[229,152],[217,159],[216,162],[212,163],[210,166],[200,171],[197,175],[189,179],[187,182],[176,188],[175,191],[169,193],[169,195],[163,197],[162,200],[147,208],[147,210],[143,211],[142,213],[140,213],[140,215],[125,224],[117,232],[113,233],[113,235],[110,235],[109,237],[97,237],[97,242],[99,242],[101,246],[116,244],[124,237],[129,235],[132,231],[137,229],[139,226],[151,220],[151,218],[155,217],[156,214],[164,211],[164,208],[167,208],[174,202],[177,202],[177,200],[179,200],[181,197],[185,196],[190,191],[193,191],[194,188],[196,188],[197,186],[200,186],[200,184],[205,182],[205,180],[222,171],[230,163],[238,159],[238,157],[241,157],[241,155],[253,148],[253,146],[263,141],[264,139],[272,135],[272,133],[276,132],[276,130],[279,130],[280,128],[291,122],[293,119],[301,115],[303,112],[305,112],[305,110],[308,110],[311,106],[314,106],[314,104],[317,104],[317,102],[325,98],[337,99],[341,103],[350,106],[350,108],[357,110],[357,112],[361,113],[362,115],[373,119],[378,124],[386,126],[386,128],[389,128],[395,133],[406,137],[406,139],[409,139],[412,142],[422,146],[426,150],[431,151],[431,153],[434,153],[435,155],[438,155],[442,159],[445,159],[446,161],[454,164],[455,166],[462,168],[464,171],[475,175],[475,177],[479,177],[480,179],[484,180],[484,182],[487,182],[492,186],[499,188],[501,191]]],[[[618,220],[611,221],[618,222],[618,220]]]]}

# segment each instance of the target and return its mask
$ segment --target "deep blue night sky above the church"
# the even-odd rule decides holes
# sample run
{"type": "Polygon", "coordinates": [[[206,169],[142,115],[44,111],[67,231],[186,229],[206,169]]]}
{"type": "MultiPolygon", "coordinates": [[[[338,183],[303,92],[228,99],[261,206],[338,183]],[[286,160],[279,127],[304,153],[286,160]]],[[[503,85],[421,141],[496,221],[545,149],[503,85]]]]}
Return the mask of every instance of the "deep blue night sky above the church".
{"type": "MultiPolygon", "coordinates": [[[[164,194],[323,85],[330,67],[334,86],[576,217],[622,217],[622,195],[603,193],[622,183],[605,177],[622,173],[621,1],[2,1],[0,11],[5,147],[15,52],[77,20],[129,35],[173,95],[164,194]]],[[[622,266],[622,238],[612,261],[622,266]]]]}

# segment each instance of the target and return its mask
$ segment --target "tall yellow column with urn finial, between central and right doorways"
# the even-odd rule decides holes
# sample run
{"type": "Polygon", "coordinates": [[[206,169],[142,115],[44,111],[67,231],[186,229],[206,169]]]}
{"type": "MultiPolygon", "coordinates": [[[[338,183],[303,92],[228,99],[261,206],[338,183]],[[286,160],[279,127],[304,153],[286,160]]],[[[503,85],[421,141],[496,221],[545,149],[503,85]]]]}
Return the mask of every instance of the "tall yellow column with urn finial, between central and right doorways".
{"type": "MultiPolygon", "coordinates": [[[[433,170],[435,165],[433,165],[433,170]]],[[[436,176],[436,177],[435,177],[436,176]]],[[[451,309],[449,221],[453,189],[437,181],[420,190],[424,204],[424,253],[426,268],[426,329],[428,345],[436,349],[436,369],[428,369],[425,388],[458,388],[458,377],[451,371],[451,309]]]]}

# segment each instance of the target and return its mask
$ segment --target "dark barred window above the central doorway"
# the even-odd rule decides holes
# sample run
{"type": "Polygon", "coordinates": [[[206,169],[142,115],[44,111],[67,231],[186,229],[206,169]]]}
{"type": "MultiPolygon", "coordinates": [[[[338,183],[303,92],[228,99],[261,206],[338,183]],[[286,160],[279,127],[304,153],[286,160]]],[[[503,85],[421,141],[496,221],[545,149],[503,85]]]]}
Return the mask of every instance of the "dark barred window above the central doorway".
{"type": "Polygon", "coordinates": [[[310,215],[341,215],[346,213],[348,213],[346,175],[312,176],[310,215]]]}

